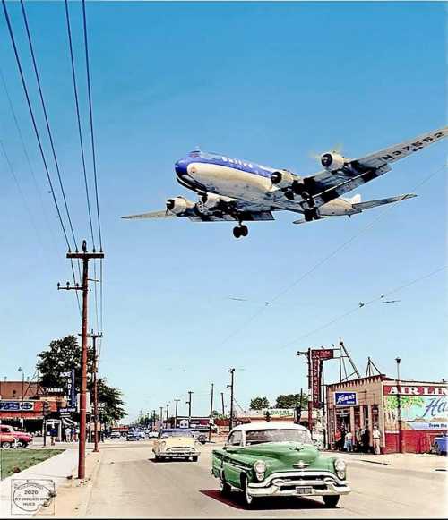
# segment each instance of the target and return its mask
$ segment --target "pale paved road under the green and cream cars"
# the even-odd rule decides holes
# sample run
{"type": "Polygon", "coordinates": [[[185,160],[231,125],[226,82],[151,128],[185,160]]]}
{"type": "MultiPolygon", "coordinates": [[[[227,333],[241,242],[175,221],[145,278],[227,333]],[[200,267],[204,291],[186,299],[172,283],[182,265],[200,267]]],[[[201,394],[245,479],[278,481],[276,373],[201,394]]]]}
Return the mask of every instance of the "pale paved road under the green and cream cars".
{"type": "Polygon", "coordinates": [[[381,465],[349,465],[352,492],[339,507],[322,499],[264,499],[247,510],[239,493],[222,499],[211,476],[211,445],[199,462],[154,462],[151,442],[101,446],[87,517],[446,517],[447,473],[409,472],[381,465]]]}

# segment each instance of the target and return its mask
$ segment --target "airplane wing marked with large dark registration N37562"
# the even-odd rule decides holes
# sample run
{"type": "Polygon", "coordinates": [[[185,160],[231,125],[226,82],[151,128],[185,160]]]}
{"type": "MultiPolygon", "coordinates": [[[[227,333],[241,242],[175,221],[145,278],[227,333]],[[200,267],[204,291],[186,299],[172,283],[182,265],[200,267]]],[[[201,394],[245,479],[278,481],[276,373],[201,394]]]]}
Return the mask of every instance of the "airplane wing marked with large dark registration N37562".
{"type": "Polygon", "coordinates": [[[347,159],[340,169],[323,171],[305,179],[306,191],[313,199],[312,206],[322,206],[337,199],[358,186],[368,183],[391,170],[391,164],[426,148],[448,135],[445,126],[433,132],[426,132],[415,139],[404,141],[386,149],[378,150],[361,158],[347,159]]]}

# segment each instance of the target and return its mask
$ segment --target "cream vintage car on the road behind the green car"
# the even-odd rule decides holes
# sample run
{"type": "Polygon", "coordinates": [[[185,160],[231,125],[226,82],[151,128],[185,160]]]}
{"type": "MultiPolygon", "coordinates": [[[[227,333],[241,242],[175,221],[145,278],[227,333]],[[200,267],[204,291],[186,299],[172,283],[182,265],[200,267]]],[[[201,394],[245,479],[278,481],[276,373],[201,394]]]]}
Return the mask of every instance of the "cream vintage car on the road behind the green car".
{"type": "Polygon", "coordinates": [[[154,440],[152,451],[156,460],[184,458],[194,462],[201,453],[197,448],[192,431],[185,428],[160,430],[158,438],[154,440]]]}

